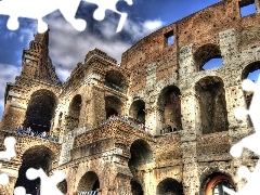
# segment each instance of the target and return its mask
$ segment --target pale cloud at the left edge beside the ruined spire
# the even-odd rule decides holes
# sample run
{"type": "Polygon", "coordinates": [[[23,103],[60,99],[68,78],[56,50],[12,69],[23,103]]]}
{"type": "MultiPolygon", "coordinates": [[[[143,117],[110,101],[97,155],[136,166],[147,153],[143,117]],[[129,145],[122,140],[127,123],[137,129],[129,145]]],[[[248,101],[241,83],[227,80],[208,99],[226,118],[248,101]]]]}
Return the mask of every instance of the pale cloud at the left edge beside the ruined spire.
{"type": "Polygon", "coordinates": [[[20,75],[21,67],[8,64],[0,64],[0,116],[4,109],[4,91],[6,82],[14,82],[15,77],[20,75]]]}

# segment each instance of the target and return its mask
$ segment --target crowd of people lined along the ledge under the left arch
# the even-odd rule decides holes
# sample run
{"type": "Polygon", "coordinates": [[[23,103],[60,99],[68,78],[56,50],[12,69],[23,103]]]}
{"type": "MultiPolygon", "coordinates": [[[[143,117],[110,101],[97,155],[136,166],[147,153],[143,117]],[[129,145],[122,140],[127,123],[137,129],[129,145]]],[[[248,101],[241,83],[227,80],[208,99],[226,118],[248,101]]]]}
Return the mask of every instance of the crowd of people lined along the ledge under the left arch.
{"type": "Polygon", "coordinates": [[[55,136],[54,134],[49,133],[48,131],[42,131],[42,132],[34,131],[30,127],[25,128],[23,125],[18,126],[15,129],[15,132],[20,134],[29,135],[29,136],[37,136],[37,138],[50,140],[53,142],[58,142],[58,136],[55,136]]]}

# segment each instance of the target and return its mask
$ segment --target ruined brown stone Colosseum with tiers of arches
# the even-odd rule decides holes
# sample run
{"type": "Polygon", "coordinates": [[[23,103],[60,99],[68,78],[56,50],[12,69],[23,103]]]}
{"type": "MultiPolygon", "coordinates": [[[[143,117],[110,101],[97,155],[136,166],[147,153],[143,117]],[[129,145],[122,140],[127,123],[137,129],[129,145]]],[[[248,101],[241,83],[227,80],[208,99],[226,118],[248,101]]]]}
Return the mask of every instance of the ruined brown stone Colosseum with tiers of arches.
{"type": "Polygon", "coordinates": [[[0,148],[6,136],[17,143],[16,156],[0,164],[10,178],[0,194],[16,186],[39,194],[39,178],[26,178],[30,167],[48,176],[62,170],[57,187],[67,195],[242,190],[238,167],[253,170],[259,156],[244,150],[233,158],[230,148],[253,132],[234,109],[249,106],[253,93],[242,81],[260,69],[259,13],[260,0],[222,0],[146,36],[120,66],[90,51],[64,83],[49,57],[49,32],[35,35],[21,74],[5,87],[0,148]],[[248,4],[256,13],[242,16],[248,4]],[[205,69],[212,58],[221,65],[205,69]]]}

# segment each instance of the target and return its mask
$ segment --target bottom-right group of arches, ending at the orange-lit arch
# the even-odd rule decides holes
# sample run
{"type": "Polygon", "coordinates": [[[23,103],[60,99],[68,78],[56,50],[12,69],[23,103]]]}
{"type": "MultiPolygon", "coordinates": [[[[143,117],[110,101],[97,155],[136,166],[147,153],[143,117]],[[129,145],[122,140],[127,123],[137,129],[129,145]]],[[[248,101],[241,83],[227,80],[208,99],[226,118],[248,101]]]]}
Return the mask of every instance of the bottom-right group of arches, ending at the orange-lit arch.
{"type": "MultiPolygon", "coordinates": [[[[131,158],[129,159],[129,169],[132,172],[131,193],[133,195],[143,195],[142,176],[138,173],[138,168],[153,161],[153,152],[150,144],[144,140],[135,140],[130,147],[131,158]]],[[[232,177],[221,171],[212,171],[209,174],[200,176],[202,195],[225,195],[223,186],[236,191],[232,177]]],[[[156,195],[183,195],[184,187],[182,182],[173,178],[166,178],[157,184],[156,195]]]]}

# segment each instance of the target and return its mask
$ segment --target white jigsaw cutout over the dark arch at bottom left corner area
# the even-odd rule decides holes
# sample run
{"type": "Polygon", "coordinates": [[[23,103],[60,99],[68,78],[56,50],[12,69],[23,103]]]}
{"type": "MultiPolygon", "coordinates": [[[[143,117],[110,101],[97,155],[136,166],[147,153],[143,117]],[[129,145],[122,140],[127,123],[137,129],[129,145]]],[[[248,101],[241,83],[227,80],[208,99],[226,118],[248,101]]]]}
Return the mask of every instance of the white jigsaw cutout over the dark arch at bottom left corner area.
{"type": "MultiPolygon", "coordinates": [[[[56,186],[57,183],[65,179],[62,171],[54,171],[53,176],[49,178],[41,168],[29,168],[26,171],[26,177],[28,180],[40,178],[40,195],[64,195],[56,186]]],[[[15,187],[14,195],[26,195],[26,191],[22,186],[15,187]]]]}

